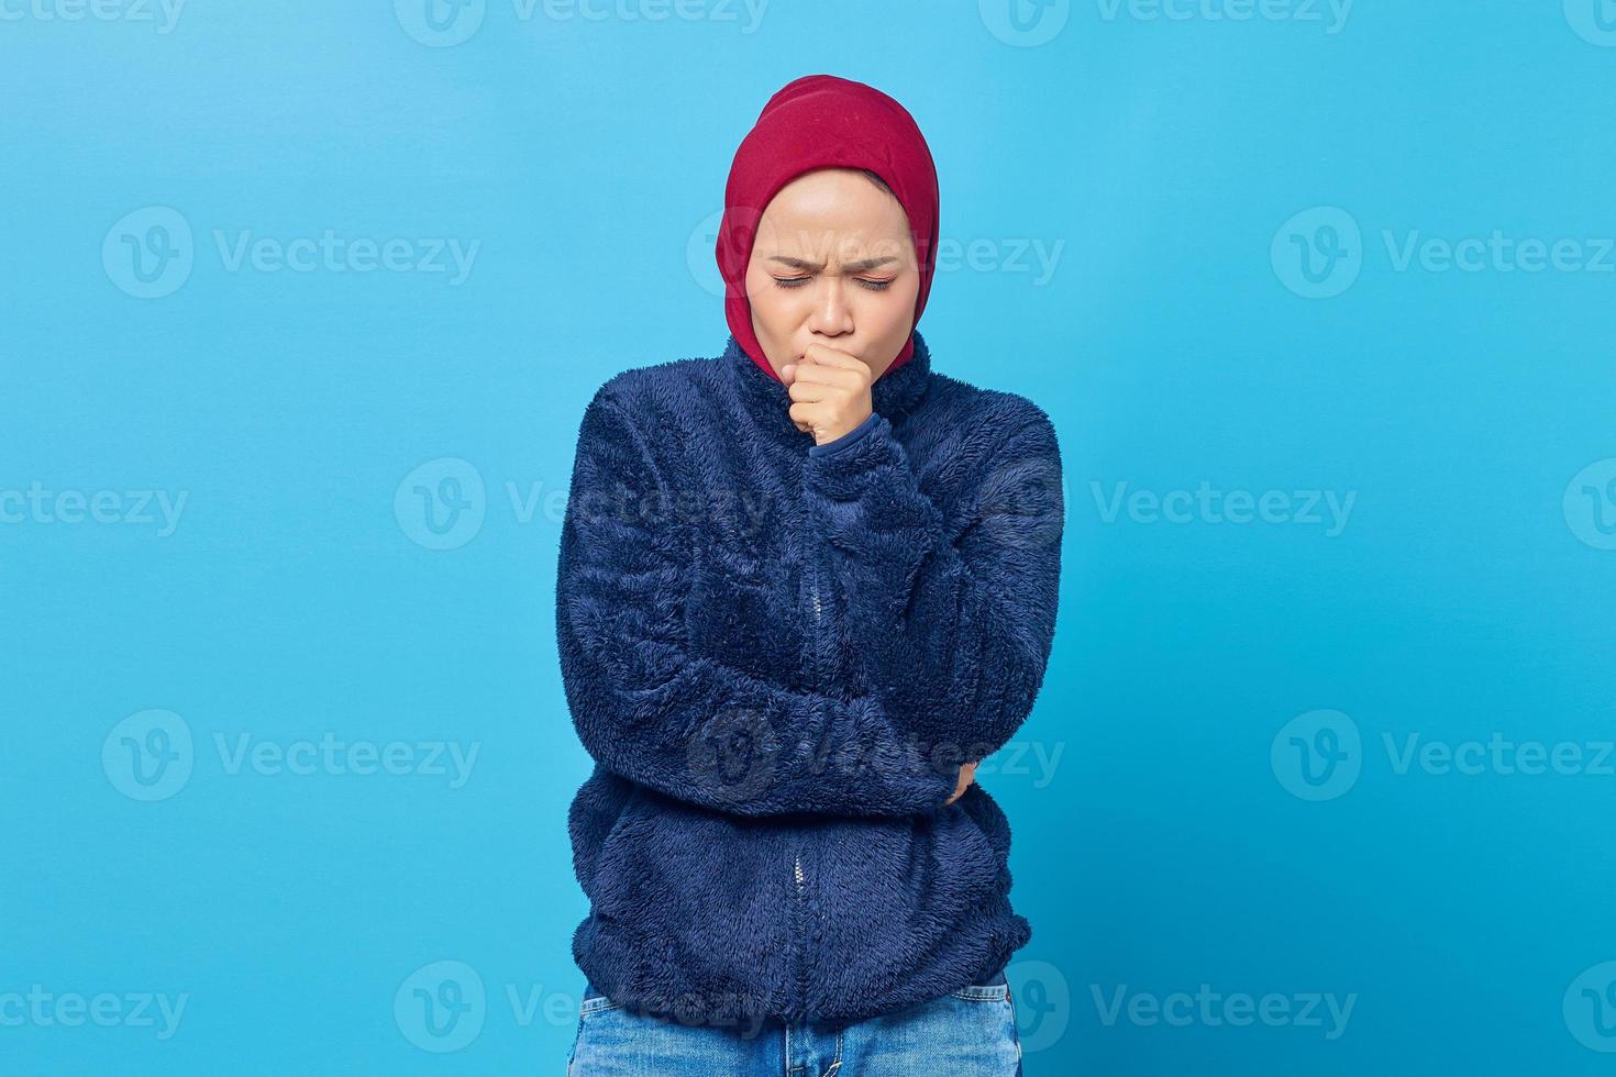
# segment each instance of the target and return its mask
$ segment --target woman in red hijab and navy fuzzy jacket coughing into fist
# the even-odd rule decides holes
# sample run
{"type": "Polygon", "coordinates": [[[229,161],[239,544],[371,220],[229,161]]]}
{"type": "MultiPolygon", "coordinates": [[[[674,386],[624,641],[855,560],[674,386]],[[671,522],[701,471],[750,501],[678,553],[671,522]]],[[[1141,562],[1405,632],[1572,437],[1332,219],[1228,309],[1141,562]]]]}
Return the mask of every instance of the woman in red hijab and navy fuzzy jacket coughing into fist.
{"type": "Polygon", "coordinates": [[[1055,625],[1047,415],[931,368],[931,152],[826,74],[726,189],[719,358],[583,413],[558,567],[591,911],[569,1074],[1018,1074],[1010,830],[973,783],[1055,625]]]}

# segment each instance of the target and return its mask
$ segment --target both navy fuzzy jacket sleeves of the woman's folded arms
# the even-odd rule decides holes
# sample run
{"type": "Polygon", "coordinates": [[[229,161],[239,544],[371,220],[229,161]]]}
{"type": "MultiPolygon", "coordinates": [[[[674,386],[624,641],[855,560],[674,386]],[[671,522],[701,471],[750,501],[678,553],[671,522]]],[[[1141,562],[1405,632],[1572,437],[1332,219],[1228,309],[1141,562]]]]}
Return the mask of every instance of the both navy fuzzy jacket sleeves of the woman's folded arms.
{"type": "Polygon", "coordinates": [[[690,644],[690,552],[677,528],[635,509],[666,489],[658,462],[609,386],[590,400],[556,628],[574,725],[601,765],[740,815],[913,815],[949,801],[960,762],[1025,720],[1058,573],[1047,418],[1002,442],[971,494],[971,526],[952,541],[886,418],[827,447],[808,460],[806,496],[874,686],[853,698],[789,688],[690,644]]]}

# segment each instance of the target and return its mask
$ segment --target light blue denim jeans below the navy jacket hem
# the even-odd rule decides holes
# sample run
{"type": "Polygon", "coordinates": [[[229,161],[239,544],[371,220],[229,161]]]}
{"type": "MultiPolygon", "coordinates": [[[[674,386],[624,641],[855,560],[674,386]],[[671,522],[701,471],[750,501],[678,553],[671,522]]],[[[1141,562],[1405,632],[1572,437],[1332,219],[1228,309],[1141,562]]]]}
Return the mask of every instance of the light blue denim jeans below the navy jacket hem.
{"type": "Polygon", "coordinates": [[[763,1022],[750,1030],[633,1012],[583,988],[567,1077],[1021,1077],[1004,974],[842,1029],[763,1022]]]}

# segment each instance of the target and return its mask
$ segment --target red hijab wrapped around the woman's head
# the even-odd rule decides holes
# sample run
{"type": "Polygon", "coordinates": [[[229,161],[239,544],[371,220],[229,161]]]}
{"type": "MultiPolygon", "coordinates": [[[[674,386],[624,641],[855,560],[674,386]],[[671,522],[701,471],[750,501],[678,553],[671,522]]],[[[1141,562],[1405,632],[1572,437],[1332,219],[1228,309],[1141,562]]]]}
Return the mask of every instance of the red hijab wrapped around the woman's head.
{"type": "MultiPolygon", "coordinates": [[[[834,74],[805,74],[769,98],[729,166],[724,221],[718,229],[718,270],[724,276],[724,318],[735,342],[763,373],[779,381],[751,331],[747,263],[758,221],[781,187],[814,168],[868,168],[908,213],[920,268],[915,323],[926,308],[937,260],[937,168],[915,118],[881,90],[834,74]]],[[[915,333],[887,370],[915,354],[915,333]]]]}

